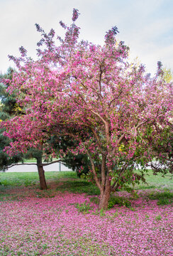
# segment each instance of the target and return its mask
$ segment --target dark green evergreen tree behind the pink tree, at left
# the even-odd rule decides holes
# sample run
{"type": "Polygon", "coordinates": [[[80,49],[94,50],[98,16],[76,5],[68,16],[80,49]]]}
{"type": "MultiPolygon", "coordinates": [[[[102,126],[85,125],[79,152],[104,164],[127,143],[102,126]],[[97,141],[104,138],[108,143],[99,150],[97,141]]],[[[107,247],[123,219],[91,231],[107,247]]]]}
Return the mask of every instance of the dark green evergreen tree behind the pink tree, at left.
{"type": "MultiPolygon", "coordinates": [[[[9,68],[7,70],[7,73],[5,75],[1,75],[1,79],[5,78],[7,80],[12,80],[13,73],[16,71],[13,70],[13,68],[9,68]]],[[[0,108],[0,119],[1,121],[4,121],[6,119],[10,119],[12,117],[15,117],[16,115],[25,114],[24,110],[21,109],[21,107],[18,107],[17,101],[16,101],[16,95],[12,94],[10,95],[9,92],[7,92],[7,88],[9,86],[9,82],[4,85],[3,83],[0,84],[0,98],[1,98],[1,108],[0,108]]],[[[3,130],[2,130],[3,132],[3,130]]],[[[47,151],[47,162],[43,163],[43,151],[30,148],[28,149],[26,154],[18,153],[14,156],[9,156],[4,151],[4,148],[6,146],[9,146],[11,143],[11,140],[9,137],[5,137],[1,132],[0,136],[0,169],[5,170],[8,168],[11,168],[14,165],[17,165],[18,162],[21,162],[22,164],[25,159],[36,159],[36,165],[38,168],[38,174],[40,179],[40,188],[41,189],[47,189],[47,184],[45,181],[45,171],[43,169],[43,165],[48,165],[52,163],[53,159],[48,156],[47,151]]],[[[74,142],[71,140],[67,140],[65,138],[59,139],[58,143],[56,143],[55,137],[50,138],[51,146],[56,149],[57,154],[60,149],[67,150],[68,146],[72,146],[74,142]],[[53,140],[54,139],[54,140],[53,140]]],[[[53,161],[55,163],[55,161],[53,161]]],[[[77,171],[78,176],[81,176],[81,174],[86,174],[89,171],[89,160],[86,155],[79,154],[77,156],[74,156],[72,153],[69,152],[67,156],[63,159],[61,159],[61,162],[65,164],[69,169],[72,169],[73,171],[77,171]]],[[[26,163],[25,163],[26,164],[26,163]]],[[[33,165],[33,164],[32,164],[33,165]]]]}

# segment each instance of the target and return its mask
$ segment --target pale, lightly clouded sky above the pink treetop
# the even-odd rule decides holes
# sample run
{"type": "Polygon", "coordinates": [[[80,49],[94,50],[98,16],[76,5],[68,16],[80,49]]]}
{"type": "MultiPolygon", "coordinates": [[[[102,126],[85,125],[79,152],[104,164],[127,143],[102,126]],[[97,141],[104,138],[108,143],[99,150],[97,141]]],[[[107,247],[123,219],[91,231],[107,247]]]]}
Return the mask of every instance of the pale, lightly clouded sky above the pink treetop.
{"type": "Polygon", "coordinates": [[[62,36],[59,21],[70,25],[73,8],[80,13],[81,39],[103,45],[106,31],[117,26],[130,60],[138,58],[152,75],[157,61],[173,70],[173,0],[0,0],[0,73],[15,67],[8,55],[18,56],[21,46],[36,58],[35,23],[62,36]]]}

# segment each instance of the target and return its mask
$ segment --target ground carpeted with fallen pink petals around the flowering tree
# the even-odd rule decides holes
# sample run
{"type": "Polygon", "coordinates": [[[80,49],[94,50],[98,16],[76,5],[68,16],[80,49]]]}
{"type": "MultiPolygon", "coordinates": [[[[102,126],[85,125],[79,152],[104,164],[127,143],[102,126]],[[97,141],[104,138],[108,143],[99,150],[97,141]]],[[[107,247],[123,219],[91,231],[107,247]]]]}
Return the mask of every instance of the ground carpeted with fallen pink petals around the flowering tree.
{"type": "Polygon", "coordinates": [[[99,213],[89,198],[57,193],[2,201],[0,255],[173,255],[171,206],[138,198],[130,208],[99,213]],[[77,208],[84,202],[92,206],[88,213],[77,208]]]}

